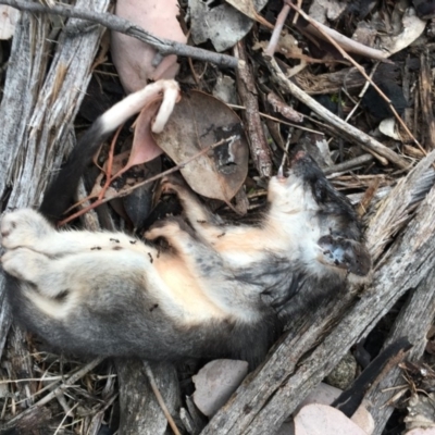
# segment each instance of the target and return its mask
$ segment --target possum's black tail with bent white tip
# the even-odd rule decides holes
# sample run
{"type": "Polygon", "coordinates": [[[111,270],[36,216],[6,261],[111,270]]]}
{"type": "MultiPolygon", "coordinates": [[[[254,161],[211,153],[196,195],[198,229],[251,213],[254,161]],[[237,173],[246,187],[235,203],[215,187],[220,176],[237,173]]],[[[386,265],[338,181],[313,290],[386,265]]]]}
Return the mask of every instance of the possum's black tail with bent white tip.
{"type": "Polygon", "coordinates": [[[39,208],[39,212],[45,217],[53,223],[61,219],[74,198],[80,176],[103,140],[159,95],[162,95],[163,101],[152,130],[160,133],[179,98],[179,88],[175,80],[159,80],[130,94],[94,122],[77,141],[65,164],[48,186],[39,208]]]}

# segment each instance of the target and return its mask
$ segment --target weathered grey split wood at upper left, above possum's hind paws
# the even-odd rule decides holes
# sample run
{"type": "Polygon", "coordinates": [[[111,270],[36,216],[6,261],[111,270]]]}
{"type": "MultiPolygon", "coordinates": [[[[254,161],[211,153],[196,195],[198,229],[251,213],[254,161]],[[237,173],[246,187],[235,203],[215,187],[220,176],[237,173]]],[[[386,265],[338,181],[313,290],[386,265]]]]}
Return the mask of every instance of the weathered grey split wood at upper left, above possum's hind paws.
{"type": "MultiPolygon", "coordinates": [[[[86,0],[77,4],[88,5],[86,0]]],[[[92,8],[107,10],[108,0],[92,8]]],[[[85,95],[101,34],[69,34],[70,20],[60,36],[47,73],[50,23],[46,16],[23,13],[13,38],[3,99],[0,105],[0,196],[12,185],[5,209],[34,207],[71,144],[71,124],[85,95]],[[47,74],[47,75],[46,75],[47,74]],[[65,110],[67,108],[67,110],[65,110]]],[[[3,279],[2,279],[3,281],[3,279]]],[[[3,282],[0,289],[0,331],[9,327],[3,282]]],[[[2,348],[0,348],[1,353],[2,348]]]]}

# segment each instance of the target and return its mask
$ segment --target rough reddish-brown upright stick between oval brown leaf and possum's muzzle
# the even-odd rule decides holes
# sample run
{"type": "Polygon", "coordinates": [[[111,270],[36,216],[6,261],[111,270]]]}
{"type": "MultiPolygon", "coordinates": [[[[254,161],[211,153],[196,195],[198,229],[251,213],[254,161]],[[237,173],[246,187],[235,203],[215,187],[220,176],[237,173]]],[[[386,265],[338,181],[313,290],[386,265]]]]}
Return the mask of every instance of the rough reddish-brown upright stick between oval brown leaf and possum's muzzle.
{"type": "Polygon", "coordinates": [[[237,70],[237,90],[241,104],[246,108],[244,122],[248,133],[251,158],[260,176],[270,177],[272,175],[271,153],[259,114],[256,83],[244,41],[237,42],[235,52],[245,62],[245,66],[240,66],[237,70]]]}

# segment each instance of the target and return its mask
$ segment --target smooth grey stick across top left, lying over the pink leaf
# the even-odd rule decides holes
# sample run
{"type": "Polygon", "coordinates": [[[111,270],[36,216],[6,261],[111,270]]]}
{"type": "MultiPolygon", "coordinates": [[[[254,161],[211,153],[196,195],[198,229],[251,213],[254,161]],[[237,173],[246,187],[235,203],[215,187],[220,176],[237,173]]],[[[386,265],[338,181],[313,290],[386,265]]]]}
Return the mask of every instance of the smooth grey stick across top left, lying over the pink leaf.
{"type": "Polygon", "coordinates": [[[59,4],[48,8],[39,3],[24,0],[0,0],[0,4],[8,4],[20,11],[60,15],[69,18],[79,18],[97,23],[113,32],[119,32],[120,34],[130,36],[132,38],[139,39],[140,41],[150,45],[161,55],[177,54],[186,58],[198,59],[204,62],[211,62],[222,67],[237,69],[241,64],[238,59],[232,55],[220,54],[213,51],[176,42],[171,39],[157,37],[149,32],[146,32],[140,26],[133,24],[128,20],[124,20],[110,13],[91,12],[84,9],[59,4]]]}

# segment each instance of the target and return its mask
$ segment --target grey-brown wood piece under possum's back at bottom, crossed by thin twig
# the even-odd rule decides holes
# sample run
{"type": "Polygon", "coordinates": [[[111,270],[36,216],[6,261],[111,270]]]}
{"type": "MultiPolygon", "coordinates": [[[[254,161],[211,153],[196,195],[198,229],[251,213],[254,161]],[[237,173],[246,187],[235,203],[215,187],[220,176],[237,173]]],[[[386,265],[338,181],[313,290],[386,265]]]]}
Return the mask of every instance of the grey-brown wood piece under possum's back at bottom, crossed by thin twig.
{"type": "MultiPolygon", "coordinates": [[[[159,390],[172,415],[179,408],[179,388],[172,364],[151,364],[159,390]]],[[[167,420],[160,408],[140,360],[117,360],[120,435],[163,435],[167,420]]]]}

